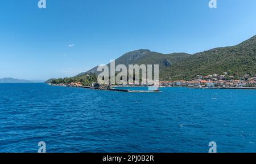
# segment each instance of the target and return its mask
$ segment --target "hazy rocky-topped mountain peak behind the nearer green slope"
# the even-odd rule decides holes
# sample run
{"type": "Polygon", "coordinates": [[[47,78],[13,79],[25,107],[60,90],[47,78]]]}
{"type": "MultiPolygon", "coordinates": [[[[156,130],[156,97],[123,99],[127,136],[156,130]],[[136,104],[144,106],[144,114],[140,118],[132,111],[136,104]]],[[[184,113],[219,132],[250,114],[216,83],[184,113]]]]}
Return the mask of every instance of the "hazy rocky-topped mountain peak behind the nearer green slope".
{"type": "MultiPolygon", "coordinates": [[[[170,67],[172,64],[178,63],[184,57],[189,57],[187,53],[173,53],[173,54],[161,54],[152,52],[150,50],[136,50],[126,53],[115,60],[115,66],[118,64],[159,64],[159,70],[161,71],[165,67],[170,67]]],[[[110,63],[108,64],[110,67],[110,63]]],[[[97,66],[98,67],[98,66],[97,66]]],[[[99,74],[97,67],[92,68],[87,72],[83,72],[77,76],[85,75],[90,73],[99,74]]]]}

